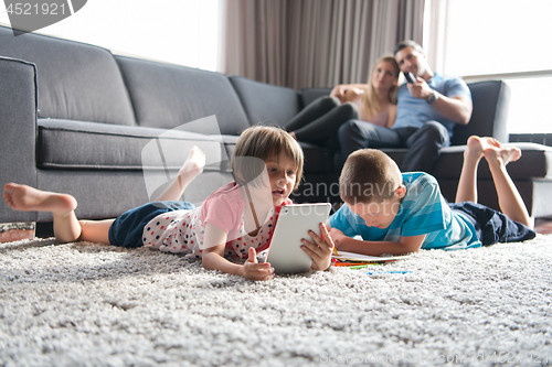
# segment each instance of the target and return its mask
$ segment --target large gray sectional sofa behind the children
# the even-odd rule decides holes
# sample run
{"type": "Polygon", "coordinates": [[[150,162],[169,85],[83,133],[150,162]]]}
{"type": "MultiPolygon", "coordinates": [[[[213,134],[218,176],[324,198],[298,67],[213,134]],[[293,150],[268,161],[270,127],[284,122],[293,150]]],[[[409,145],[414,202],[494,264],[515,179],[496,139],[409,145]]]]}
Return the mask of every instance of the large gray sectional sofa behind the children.
{"type": "MultiPolygon", "coordinates": [[[[454,199],[461,151],[471,133],[508,140],[508,86],[469,85],[474,116],[458,127],[435,175],[454,199]]],[[[0,26],[0,185],[7,182],[73,194],[82,218],[114,217],[148,202],[173,176],[191,145],[208,156],[184,199],[201,203],[232,180],[229,159],[240,132],[257,122],[285,127],[329,89],[289,88],[243,77],[113,55],[109,51],[0,26]]],[[[339,202],[335,154],[301,143],[306,182],[296,202],[339,202]]],[[[534,216],[552,215],[551,149],[521,144],[510,173],[534,216]]],[[[397,162],[404,150],[386,150],[397,162]]],[[[482,172],[485,171],[484,168],[482,172]]],[[[497,206],[480,174],[481,202],[497,206]]],[[[0,204],[0,223],[51,220],[0,204]]]]}

